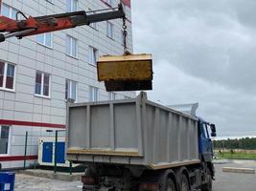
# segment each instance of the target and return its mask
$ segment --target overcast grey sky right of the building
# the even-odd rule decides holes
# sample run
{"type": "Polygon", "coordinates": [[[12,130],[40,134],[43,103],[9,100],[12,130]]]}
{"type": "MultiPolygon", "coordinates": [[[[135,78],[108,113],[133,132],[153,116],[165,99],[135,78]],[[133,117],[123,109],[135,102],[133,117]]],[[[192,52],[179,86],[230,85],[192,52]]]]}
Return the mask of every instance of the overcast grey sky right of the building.
{"type": "Polygon", "coordinates": [[[218,136],[256,136],[255,11],[255,0],[132,0],[134,53],[153,54],[151,100],[199,102],[218,136]]]}

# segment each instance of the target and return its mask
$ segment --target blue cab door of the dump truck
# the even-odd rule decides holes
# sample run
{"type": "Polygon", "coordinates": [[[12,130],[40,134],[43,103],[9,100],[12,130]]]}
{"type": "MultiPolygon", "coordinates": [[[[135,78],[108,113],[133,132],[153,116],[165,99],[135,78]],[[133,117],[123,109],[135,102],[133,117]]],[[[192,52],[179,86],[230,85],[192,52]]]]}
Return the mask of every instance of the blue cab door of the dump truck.
{"type": "Polygon", "coordinates": [[[200,122],[199,133],[199,152],[205,161],[211,161],[213,156],[212,140],[206,123],[200,122]]]}

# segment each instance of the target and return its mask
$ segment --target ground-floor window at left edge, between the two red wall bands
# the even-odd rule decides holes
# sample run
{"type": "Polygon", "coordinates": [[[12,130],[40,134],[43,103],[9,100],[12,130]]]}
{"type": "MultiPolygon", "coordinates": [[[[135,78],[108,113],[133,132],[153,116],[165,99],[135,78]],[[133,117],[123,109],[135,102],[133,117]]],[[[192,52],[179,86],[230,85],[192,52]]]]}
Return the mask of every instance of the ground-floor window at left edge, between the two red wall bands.
{"type": "Polygon", "coordinates": [[[10,127],[0,126],[0,155],[8,154],[10,127]]]}

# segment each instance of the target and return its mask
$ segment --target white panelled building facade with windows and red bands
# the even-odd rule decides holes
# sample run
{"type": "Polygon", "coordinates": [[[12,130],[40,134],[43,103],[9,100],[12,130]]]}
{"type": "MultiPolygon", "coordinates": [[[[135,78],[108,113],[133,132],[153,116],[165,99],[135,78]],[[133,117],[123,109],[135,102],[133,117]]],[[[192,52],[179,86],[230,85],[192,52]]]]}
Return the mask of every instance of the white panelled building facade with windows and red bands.
{"type": "MultiPolygon", "coordinates": [[[[68,11],[117,7],[119,0],[0,0],[1,14],[15,18],[68,11]]],[[[132,52],[130,2],[128,49],[132,52]]],[[[0,163],[23,166],[28,132],[27,165],[37,160],[38,138],[54,136],[47,130],[65,129],[66,99],[76,102],[124,99],[134,92],[107,93],[97,80],[96,60],[123,53],[122,19],[60,32],[12,38],[0,44],[0,163]]],[[[63,136],[63,135],[61,135],[63,136]]]]}

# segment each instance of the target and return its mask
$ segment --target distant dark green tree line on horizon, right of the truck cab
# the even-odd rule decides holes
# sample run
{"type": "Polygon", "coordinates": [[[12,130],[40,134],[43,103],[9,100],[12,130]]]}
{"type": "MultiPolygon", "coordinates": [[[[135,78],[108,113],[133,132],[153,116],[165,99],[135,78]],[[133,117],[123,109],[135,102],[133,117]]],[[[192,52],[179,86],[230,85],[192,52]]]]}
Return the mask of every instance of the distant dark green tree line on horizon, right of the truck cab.
{"type": "Polygon", "coordinates": [[[256,150],[256,138],[235,138],[213,141],[215,149],[245,149],[256,150]]]}

